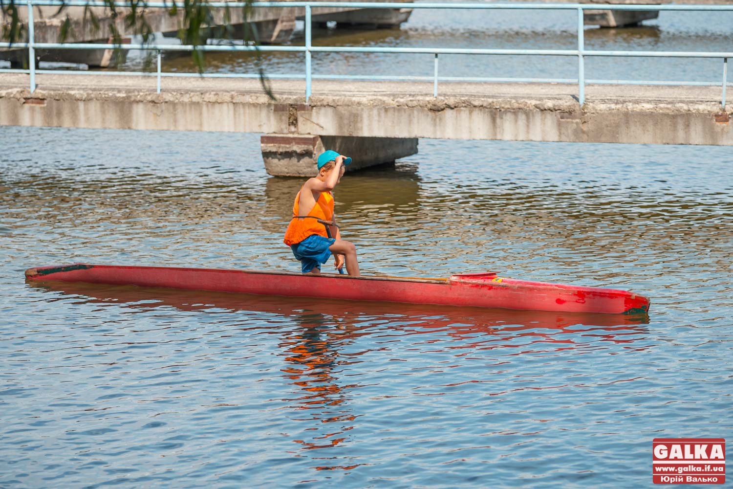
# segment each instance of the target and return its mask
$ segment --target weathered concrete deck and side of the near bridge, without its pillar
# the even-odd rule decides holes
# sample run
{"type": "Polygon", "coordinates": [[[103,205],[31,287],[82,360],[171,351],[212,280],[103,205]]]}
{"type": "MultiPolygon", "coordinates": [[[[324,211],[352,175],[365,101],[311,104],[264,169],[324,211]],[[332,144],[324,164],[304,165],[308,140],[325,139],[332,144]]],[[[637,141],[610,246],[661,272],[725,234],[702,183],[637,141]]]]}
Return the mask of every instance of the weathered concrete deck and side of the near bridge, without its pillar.
{"type": "MultiPolygon", "coordinates": [[[[244,84],[240,80],[226,83],[211,79],[166,80],[166,84],[187,84],[194,88],[166,89],[156,94],[150,89],[81,87],[78,77],[73,79],[77,87],[55,89],[40,78],[40,88],[30,94],[27,88],[2,89],[1,82],[7,77],[10,75],[0,77],[0,125],[733,145],[730,123],[733,104],[724,113],[719,102],[685,101],[688,95],[699,97],[703,93],[701,87],[689,87],[689,94],[684,90],[671,92],[667,101],[659,100],[660,95],[658,100],[644,103],[613,101],[607,97],[603,101],[589,101],[581,110],[570,96],[552,98],[547,95],[547,100],[543,100],[542,86],[528,88],[537,95],[534,100],[480,95],[434,99],[424,95],[365,95],[371,93],[370,87],[353,84],[353,95],[314,96],[306,105],[301,95],[280,95],[279,100],[273,102],[262,93],[236,92],[233,87],[244,84]],[[210,91],[200,91],[196,88],[197,83],[209,87],[210,91]]],[[[27,76],[18,77],[16,86],[21,84],[21,78],[27,83],[27,76]]],[[[96,78],[105,78],[99,83],[108,83],[108,78],[112,77],[96,78]]],[[[126,83],[133,82],[128,79],[133,77],[120,78],[125,78],[126,83]]],[[[147,78],[145,83],[152,83],[154,87],[154,79],[147,78]]],[[[258,84],[253,81],[252,86],[258,87],[258,84]]],[[[279,87],[273,84],[276,93],[279,87]]],[[[402,88],[412,94],[420,93],[417,88],[402,88]]],[[[479,88],[482,87],[474,87],[474,92],[479,88]]],[[[470,87],[462,89],[469,93],[471,90],[470,87]]],[[[490,91],[493,88],[482,89],[490,91]]],[[[622,91],[633,89],[619,88],[622,91]]],[[[652,89],[656,87],[649,87],[650,91],[652,89]]],[[[710,96],[714,97],[715,91],[711,91],[710,96]]]]}

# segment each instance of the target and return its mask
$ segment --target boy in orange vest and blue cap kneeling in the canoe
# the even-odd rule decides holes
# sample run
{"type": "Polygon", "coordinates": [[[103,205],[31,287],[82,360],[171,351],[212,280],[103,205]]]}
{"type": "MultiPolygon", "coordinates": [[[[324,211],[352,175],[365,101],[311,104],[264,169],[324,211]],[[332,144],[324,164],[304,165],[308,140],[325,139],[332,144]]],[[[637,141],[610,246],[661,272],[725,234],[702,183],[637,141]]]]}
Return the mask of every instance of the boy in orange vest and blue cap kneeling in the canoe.
{"type": "Polygon", "coordinates": [[[301,261],[301,271],[320,275],[320,265],[334,254],[336,269],[341,270],[346,262],[346,271],[351,276],[359,276],[356,262],[356,246],[341,239],[334,215],[334,196],[331,190],[339,183],[345,165],[351,163],[335,151],[328,150],[318,157],[318,174],[309,179],[298,194],[292,206],[292,219],[285,232],[283,243],[290,246],[292,254],[301,261]],[[327,224],[323,224],[326,221],[327,224]],[[328,238],[326,226],[331,235],[328,238]]]}

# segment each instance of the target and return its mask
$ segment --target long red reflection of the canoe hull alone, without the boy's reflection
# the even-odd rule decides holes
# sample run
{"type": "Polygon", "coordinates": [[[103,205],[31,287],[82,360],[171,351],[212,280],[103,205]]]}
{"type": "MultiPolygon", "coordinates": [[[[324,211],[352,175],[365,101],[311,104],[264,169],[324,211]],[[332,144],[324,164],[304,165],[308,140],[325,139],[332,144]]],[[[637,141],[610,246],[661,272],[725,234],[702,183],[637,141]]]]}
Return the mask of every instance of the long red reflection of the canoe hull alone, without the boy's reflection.
{"type": "Polygon", "coordinates": [[[406,334],[414,333],[418,327],[445,327],[459,336],[465,331],[491,334],[499,329],[507,328],[508,331],[542,328],[564,330],[571,326],[627,329],[649,323],[647,315],[607,315],[592,312],[524,311],[433,304],[342,301],[83,282],[31,282],[26,280],[26,286],[59,293],[60,295],[57,295],[55,300],[78,297],[92,304],[110,304],[133,309],[155,309],[168,306],[187,312],[206,313],[213,309],[216,309],[217,313],[222,311],[268,312],[298,318],[298,320],[309,320],[314,314],[323,314],[331,322],[348,323],[349,334],[354,337],[360,335],[361,328],[357,325],[359,320],[365,318],[369,320],[384,318],[394,322],[410,320],[409,327],[396,324],[391,328],[406,334]]]}

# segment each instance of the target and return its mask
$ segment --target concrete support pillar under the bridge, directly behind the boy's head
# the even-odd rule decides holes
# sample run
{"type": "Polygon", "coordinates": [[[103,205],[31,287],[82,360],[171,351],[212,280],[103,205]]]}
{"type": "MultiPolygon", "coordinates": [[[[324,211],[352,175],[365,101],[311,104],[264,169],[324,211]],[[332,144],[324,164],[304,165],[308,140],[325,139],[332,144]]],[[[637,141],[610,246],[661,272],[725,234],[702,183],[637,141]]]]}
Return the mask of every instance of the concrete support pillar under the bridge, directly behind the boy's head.
{"type": "Polygon", "coordinates": [[[334,150],[353,158],[348,171],[391,163],[417,153],[417,138],[266,134],[260,139],[265,171],[278,177],[314,177],[318,155],[334,150]]]}

